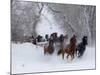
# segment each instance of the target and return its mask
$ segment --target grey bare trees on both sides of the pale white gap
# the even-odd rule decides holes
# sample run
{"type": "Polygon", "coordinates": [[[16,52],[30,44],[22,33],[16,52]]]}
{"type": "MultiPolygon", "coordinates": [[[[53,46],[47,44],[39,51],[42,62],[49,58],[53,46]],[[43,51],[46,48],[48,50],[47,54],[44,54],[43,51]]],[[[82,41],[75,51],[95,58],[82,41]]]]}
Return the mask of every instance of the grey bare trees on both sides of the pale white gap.
{"type": "MultiPolygon", "coordinates": [[[[87,35],[89,42],[95,42],[96,7],[72,4],[36,3],[11,0],[11,40],[24,42],[30,36],[37,36],[36,26],[41,21],[41,13],[48,7],[58,25],[68,34],[76,34],[79,39],[87,35]]],[[[45,14],[44,16],[47,17],[45,14]]],[[[50,21],[48,21],[50,23],[50,21]]]]}

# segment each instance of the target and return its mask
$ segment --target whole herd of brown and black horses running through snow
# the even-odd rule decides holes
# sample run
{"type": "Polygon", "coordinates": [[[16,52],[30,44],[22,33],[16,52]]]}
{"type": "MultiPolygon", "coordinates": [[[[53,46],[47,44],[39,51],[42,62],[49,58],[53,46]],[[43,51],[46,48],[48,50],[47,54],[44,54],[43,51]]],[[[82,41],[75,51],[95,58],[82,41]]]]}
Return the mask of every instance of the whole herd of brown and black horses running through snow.
{"type": "MultiPolygon", "coordinates": [[[[42,42],[42,36],[38,35],[36,38],[32,36],[33,40],[32,43],[37,45],[37,42],[42,42]]],[[[67,35],[61,34],[59,37],[57,36],[57,33],[52,33],[50,36],[47,34],[45,35],[45,41],[48,42],[48,44],[44,45],[44,55],[45,54],[53,54],[55,51],[54,44],[59,42],[60,43],[60,49],[57,50],[57,55],[62,55],[62,59],[64,59],[65,54],[67,55],[66,58],[68,59],[69,56],[71,57],[71,60],[75,58],[75,55],[80,58],[83,56],[86,45],[88,44],[87,36],[83,36],[80,43],[77,44],[76,35],[74,34],[67,45],[65,45],[65,40],[68,39],[67,35]],[[64,47],[65,45],[65,47],[64,47]]]]}

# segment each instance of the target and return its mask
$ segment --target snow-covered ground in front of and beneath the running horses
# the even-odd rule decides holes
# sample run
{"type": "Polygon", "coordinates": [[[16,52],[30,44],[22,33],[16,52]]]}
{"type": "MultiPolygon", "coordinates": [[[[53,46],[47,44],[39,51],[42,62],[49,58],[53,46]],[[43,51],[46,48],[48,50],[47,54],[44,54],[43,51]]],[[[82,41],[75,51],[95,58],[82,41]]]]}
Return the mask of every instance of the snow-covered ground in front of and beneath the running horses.
{"type": "Polygon", "coordinates": [[[95,68],[95,47],[87,47],[82,58],[73,61],[57,56],[44,55],[43,47],[31,43],[12,43],[12,73],[47,72],[95,68]]]}

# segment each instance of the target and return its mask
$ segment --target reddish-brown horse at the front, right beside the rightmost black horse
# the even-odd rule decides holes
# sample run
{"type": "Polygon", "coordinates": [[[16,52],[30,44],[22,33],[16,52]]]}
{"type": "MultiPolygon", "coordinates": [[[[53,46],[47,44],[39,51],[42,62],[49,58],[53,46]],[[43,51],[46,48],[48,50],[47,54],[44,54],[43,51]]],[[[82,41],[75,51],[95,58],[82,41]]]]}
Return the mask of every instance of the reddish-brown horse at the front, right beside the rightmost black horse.
{"type": "Polygon", "coordinates": [[[73,37],[70,39],[70,44],[67,46],[67,48],[64,50],[65,53],[67,53],[67,58],[71,56],[71,59],[74,59],[74,55],[76,53],[76,36],[73,35],[73,37]]]}

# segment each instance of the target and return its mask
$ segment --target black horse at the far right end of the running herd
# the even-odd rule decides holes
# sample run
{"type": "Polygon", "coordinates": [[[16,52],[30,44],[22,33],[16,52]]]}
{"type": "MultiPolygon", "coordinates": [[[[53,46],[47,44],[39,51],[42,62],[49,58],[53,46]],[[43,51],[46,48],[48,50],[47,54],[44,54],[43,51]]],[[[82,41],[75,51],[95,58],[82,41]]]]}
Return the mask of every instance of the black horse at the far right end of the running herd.
{"type": "Polygon", "coordinates": [[[77,53],[78,53],[78,57],[83,56],[87,44],[88,44],[88,43],[87,43],[87,36],[83,36],[82,42],[79,43],[79,44],[77,45],[77,48],[76,48],[76,51],[77,51],[77,53]]]}

